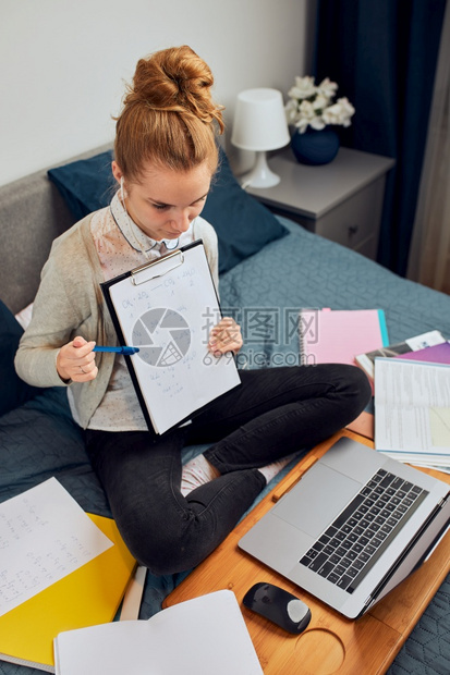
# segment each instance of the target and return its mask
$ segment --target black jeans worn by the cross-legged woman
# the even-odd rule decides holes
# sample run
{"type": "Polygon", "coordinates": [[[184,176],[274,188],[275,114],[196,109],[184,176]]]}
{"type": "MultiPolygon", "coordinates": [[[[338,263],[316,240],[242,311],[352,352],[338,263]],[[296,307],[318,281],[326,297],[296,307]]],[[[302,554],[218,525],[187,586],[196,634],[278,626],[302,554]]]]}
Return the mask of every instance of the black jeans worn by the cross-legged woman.
{"type": "Polygon", "coordinates": [[[370,397],[366,376],[353,366],[240,375],[240,386],[186,427],[162,435],[88,430],[88,453],[113,518],[131,553],[153,574],[203,561],[266,486],[257,467],[329,438],[370,397]],[[188,443],[212,443],[205,456],[221,476],[184,498],[181,450],[188,443]]]}

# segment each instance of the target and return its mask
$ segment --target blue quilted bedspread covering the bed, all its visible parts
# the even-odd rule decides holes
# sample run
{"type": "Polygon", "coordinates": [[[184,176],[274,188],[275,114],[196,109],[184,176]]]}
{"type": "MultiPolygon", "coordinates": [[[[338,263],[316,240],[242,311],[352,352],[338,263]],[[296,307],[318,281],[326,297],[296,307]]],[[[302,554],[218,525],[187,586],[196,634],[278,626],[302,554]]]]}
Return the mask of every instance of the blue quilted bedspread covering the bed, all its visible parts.
{"type": "MultiPolygon", "coordinates": [[[[390,273],[370,260],[281,219],[290,230],[258,254],[247,258],[220,280],[226,314],[243,327],[245,346],[239,365],[257,368],[299,363],[296,317],[302,307],[333,309],[382,308],[390,342],[439,329],[450,339],[450,297],[390,273]]],[[[54,394],[64,407],[62,390],[54,394]]],[[[36,415],[31,402],[26,415],[36,415]]],[[[102,490],[90,470],[76,432],[70,443],[54,435],[45,456],[8,442],[8,425],[22,424],[12,412],[0,419],[0,501],[22,492],[51,475],[68,488],[86,511],[110,515],[102,490]]],[[[23,413],[22,413],[23,415],[23,413]]],[[[64,410],[61,412],[64,416],[64,410]]],[[[185,458],[199,447],[185,451],[185,458]]],[[[288,467],[282,475],[284,475],[288,467]]],[[[278,480],[281,476],[278,477],[278,480]]],[[[276,479],[277,480],[277,479],[276,479]]],[[[273,482],[265,493],[273,487],[273,482]]],[[[264,496],[263,493],[262,496],[264,496]]],[[[147,577],[141,618],[161,608],[163,598],[185,577],[147,577]]],[[[450,672],[450,580],[447,579],[389,670],[390,675],[443,675],[450,672]]],[[[0,661],[2,675],[37,675],[41,671],[0,661]]]]}

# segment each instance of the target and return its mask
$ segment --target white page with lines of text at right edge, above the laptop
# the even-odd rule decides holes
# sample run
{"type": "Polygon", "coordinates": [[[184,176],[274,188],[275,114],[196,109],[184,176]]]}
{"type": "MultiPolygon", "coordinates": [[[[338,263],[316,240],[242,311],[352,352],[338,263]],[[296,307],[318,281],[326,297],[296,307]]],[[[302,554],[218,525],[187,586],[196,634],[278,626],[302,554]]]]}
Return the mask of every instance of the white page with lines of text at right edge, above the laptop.
{"type": "Polygon", "coordinates": [[[375,359],[375,447],[401,462],[450,465],[450,366],[375,359]]]}

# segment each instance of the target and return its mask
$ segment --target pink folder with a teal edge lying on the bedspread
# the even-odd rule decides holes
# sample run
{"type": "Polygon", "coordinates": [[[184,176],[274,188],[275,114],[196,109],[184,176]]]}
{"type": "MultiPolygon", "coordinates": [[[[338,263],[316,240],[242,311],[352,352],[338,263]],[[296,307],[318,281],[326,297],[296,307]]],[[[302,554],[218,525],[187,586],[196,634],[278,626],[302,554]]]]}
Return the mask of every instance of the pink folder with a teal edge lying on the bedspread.
{"type": "Polygon", "coordinates": [[[351,364],[357,354],[389,344],[382,309],[303,309],[302,364],[351,364]]]}

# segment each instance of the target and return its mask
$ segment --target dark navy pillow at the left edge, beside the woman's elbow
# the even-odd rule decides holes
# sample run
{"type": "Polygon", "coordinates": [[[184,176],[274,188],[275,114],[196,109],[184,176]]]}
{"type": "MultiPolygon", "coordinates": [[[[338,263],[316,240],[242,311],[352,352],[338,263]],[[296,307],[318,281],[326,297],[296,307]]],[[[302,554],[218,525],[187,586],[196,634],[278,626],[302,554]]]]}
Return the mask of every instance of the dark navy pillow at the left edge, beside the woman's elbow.
{"type": "Polygon", "coordinates": [[[41,390],[20,379],[14,368],[14,356],[23,328],[0,300],[0,416],[21,406],[41,390]]]}

